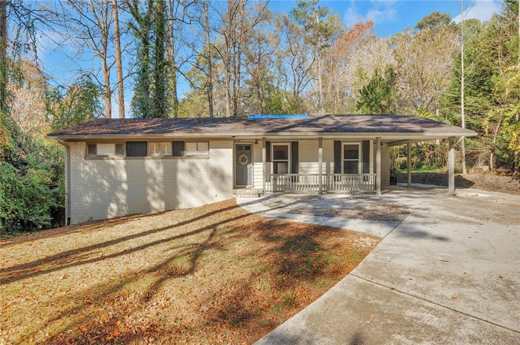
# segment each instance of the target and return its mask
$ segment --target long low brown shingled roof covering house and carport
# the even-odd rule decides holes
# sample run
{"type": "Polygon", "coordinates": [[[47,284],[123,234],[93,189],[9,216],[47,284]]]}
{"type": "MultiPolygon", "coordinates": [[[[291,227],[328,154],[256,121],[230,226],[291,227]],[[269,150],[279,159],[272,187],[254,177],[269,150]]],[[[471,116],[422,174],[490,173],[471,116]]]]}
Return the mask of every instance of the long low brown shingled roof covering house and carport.
{"type": "MultiPolygon", "coordinates": [[[[307,117],[178,117],[100,119],[51,132],[56,139],[136,136],[420,135],[472,137],[469,129],[411,115],[309,115],[307,117]]],[[[393,136],[392,136],[393,137],[393,136]]]]}

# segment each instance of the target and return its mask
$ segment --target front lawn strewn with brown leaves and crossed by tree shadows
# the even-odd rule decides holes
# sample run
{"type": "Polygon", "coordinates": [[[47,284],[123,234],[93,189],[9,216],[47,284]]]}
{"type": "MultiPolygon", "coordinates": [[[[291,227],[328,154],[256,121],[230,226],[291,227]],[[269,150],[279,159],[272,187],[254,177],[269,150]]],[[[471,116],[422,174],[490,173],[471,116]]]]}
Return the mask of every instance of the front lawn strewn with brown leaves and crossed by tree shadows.
{"type": "Polygon", "coordinates": [[[251,343],[378,241],[234,200],[8,238],[0,343],[251,343]]]}

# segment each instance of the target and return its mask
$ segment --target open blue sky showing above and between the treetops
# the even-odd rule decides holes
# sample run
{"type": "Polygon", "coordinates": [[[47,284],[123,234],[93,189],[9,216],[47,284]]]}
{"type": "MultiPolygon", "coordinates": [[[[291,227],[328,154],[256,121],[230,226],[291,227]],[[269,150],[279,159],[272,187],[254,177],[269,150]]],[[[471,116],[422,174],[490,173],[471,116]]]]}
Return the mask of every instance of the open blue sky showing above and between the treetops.
{"type": "MultiPolygon", "coordinates": [[[[296,1],[271,0],[269,7],[276,12],[289,12],[296,5],[296,1]]],[[[351,27],[357,21],[371,19],[375,24],[375,33],[386,37],[398,33],[404,29],[412,29],[419,20],[433,11],[447,12],[454,21],[460,18],[460,2],[458,0],[337,0],[320,1],[321,6],[329,7],[335,12],[348,26],[351,27]]],[[[466,10],[465,17],[487,20],[494,12],[500,10],[500,2],[493,0],[473,0],[464,1],[466,10]]],[[[53,35],[49,33],[49,35],[53,35]]],[[[75,49],[68,45],[56,45],[59,36],[54,34],[52,40],[43,39],[39,50],[39,55],[45,72],[53,77],[55,82],[67,85],[74,81],[79,75],[77,69],[92,67],[92,57],[88,54],[79,57],[74,55],[75,49]],[[46,42],[47,41],[47,42],[46,42]]],[[[124,61],[124,68],[128,70],[128,61],[124,61]]],[[[111,79],[115,84],[115,69],[111,73],[111,79]]],[[[132,81],[127,79],[125,82],[125,103],[126,113],[129,116],[129,103],[132,99],[132,81]]],[[[189,89],[185,81],[179,81],[179,97],[183,97],[183,92],[189,89]]],[[[112,103],[113,116],[118,114],[117,102],[112,103]]]]}

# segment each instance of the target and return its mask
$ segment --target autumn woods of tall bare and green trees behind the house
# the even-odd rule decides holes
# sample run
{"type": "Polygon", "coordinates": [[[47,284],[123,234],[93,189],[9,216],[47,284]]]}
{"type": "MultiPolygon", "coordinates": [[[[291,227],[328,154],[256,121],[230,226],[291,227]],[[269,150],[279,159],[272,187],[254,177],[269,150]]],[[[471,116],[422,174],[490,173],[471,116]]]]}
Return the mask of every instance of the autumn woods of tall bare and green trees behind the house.
{"type": "MultiPolygon", "coordinates": [[[[505,0],[486,22],[454,23],[432,12],[390,37],[376,36],[371,21],[347,27],[317,1],[300,1],[288,13],[267,5],[0,0],[2,235],[63,224],[63,148],[44,136],[113,114],[418,115],[478,132],[459,143],[462,172],[467,164],[517,174],[517,0],[505,0]],[[49,37],[74,50],[71,60],[88,56],[92,68],[57,83],[38,57],[49,37]],[[180,83],[189,86],[183,95],[180,83]],[[132,99],[125,100],[125,85],[132,99]]],[[[406,166],[399,150],[394,169],[406,166]]],[[[443,169],[446,151],[439,141],[413,145],[414,169],[443,169]]]]}

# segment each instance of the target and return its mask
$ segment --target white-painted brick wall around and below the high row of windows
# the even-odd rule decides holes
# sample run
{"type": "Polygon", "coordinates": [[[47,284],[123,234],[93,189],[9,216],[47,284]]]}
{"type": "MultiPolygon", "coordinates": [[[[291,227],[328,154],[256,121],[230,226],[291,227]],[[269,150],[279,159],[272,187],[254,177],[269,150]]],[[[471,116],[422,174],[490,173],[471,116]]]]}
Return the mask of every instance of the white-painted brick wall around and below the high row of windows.
{"type": "Polygon", "coordinates": [[[232,197],[231,140],[210,141],[209,158],[85,158],[70,144],[71,223],[195,207],[232,197]]]}

